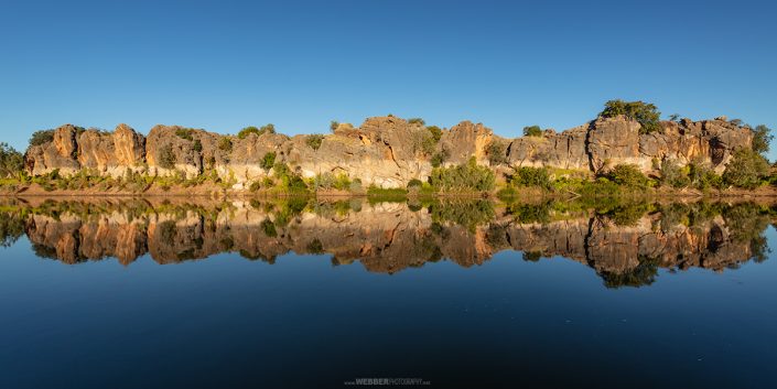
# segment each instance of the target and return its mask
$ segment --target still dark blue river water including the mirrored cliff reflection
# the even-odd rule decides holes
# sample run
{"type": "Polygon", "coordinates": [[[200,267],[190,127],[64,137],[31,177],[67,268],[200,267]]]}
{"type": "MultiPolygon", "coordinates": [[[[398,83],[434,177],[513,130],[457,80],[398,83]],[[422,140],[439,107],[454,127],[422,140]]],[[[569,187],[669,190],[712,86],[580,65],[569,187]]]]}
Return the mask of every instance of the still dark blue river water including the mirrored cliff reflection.
{"type": "Polygon", "coordinates": [[[605,203],[4,201],[0,388],[777,387],[777,206],[605,203]]]}

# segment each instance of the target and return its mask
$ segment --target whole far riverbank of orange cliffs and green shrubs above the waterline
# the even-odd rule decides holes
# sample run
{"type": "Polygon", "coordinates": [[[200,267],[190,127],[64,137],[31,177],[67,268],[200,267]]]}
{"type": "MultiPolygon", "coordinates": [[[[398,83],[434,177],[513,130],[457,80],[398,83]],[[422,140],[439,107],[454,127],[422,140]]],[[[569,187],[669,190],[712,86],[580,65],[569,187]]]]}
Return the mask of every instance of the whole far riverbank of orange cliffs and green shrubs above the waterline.
{"type": "Polygon", "coordinates": [[[611,100],[596,119],[507,139],[388,115],[330,133],[273,125],[220,134],[155,126],[143,136],[64,125],[24,154],[0,147],[3,195],[614,196],[777,195],[766,126],[717,117],[660,120],[652,104],[611,100]]]}

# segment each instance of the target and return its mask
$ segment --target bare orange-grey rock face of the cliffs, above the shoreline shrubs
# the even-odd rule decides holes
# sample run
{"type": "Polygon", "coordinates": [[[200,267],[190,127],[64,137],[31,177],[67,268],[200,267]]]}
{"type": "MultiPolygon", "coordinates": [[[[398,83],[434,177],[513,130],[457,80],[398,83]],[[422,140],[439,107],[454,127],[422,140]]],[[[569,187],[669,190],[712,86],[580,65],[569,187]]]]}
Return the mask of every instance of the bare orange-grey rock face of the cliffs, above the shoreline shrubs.
{"type": "Polygon", "coordinates": [[[250,133],[244,138],[223,136],[177,126],[155,126],[148,137],[119,125],[112,133],[82,130],[72,125],[57,128],[52,142],[31,147],[26,165],[32,174],[54,170],[74,174],[82,169],[120,176],[128,170],[150,175],[218,174],[234,188],[246,188],[272,174],[262,168],[265,155],[276,153],[304,177],[346,174],[363,185],[404,186],[410,180],[425,180],[432,171],[432,155],[446,155],[444,164],[464,163],[475,158],[489,164],[489,145],[506,145],[510,166],[550,166],[600,172],[617,164],[635,164],[645,172],[663,160],[680,165],[692,161],[708,163],[719,173],[733,153],[749,148],[753,133],[722,118],[680,122],[666,121],[661,130],[641,133],[638,122],[625,117],[598,118],[560,133],[544,131],[539,137],[503,139],[482,123],[463,121],[443,130],[439,141],[421,123],[397,117],[377,117],[359,127],[341,125],[323,137],[320,145],[309,136],[250,133]]]}

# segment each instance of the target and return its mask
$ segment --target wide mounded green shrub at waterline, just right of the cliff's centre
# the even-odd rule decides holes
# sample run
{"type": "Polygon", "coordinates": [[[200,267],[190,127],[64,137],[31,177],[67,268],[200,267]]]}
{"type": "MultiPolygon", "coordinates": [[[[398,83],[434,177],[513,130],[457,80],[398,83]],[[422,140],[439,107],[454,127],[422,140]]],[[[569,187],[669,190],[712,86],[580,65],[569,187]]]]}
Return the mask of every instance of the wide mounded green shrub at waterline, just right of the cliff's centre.
{"type": "Polygon", "coordinates": [[[442,191],[490,191],[496,176],[485,166],[478,166],[474,156],[465,164],[453,168],[434,168],[430,177],[432,186],[442,191]]]}

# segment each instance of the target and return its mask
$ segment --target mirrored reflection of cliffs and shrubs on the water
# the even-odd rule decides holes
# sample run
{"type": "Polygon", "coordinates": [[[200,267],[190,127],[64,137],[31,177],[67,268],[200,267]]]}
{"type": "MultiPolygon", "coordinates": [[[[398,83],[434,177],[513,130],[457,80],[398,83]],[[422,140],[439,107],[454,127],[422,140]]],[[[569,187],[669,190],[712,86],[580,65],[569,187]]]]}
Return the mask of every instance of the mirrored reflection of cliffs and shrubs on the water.
{"type": "Polygon", "coordinates": [[[150,255],[161,264],[234,252],[274,263],[288,252],[331,255],[393,273],[427,262],[482,264],[504,250],[526,261],[563,257],[608,288],[649,285],[658,269],[736,269],[765,260],[771,204],[489,201],[374,203],[170,199],[13,199],[0,244],[26,235],[35,255],[64,263],[150,255]]]}

